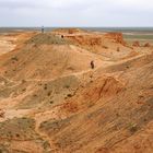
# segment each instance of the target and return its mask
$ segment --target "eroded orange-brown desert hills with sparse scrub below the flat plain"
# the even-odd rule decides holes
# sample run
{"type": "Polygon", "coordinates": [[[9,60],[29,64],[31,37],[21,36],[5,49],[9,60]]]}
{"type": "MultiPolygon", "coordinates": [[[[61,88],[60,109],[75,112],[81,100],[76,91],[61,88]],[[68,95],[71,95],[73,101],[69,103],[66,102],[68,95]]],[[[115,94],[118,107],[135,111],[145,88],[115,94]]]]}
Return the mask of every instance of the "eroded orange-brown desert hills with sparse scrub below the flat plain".
{"type": "Polygon", "coordinates": [[[153,44],[58,28],[0,35],[0,152],[152,153],[153,44]]]}

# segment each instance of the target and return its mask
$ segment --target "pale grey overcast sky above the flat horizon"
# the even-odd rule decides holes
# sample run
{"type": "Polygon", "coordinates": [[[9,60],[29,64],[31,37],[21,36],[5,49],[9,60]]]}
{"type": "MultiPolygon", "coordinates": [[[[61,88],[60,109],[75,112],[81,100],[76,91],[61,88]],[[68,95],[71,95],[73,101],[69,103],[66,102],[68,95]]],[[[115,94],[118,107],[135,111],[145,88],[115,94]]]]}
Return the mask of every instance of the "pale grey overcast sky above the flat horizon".
{"type": "Polygon", "coordinates": [[[0,26],[153,26],[153,0],[0,0],[0,26]]]}

